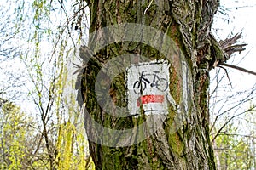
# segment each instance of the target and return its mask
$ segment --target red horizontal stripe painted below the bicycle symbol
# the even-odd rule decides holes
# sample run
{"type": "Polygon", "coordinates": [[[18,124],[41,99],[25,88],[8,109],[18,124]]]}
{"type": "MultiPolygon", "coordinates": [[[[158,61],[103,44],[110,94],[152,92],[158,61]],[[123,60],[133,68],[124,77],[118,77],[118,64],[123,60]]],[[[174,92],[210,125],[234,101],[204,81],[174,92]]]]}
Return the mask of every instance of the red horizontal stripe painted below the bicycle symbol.
{"type": "Polygon", "coordinates": [[[163,95],[143,95],[137,99],[137,106],[148,103],[163,103],[165,97],[163,95]]]}

